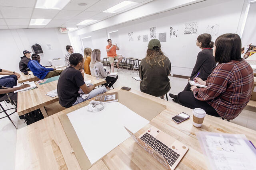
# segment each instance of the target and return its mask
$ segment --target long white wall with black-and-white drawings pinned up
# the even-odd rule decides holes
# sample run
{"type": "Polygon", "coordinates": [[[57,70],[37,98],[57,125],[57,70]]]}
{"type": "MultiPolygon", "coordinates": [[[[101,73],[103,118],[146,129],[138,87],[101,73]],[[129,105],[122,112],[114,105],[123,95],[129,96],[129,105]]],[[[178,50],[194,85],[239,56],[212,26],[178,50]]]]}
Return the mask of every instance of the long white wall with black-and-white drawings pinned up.
{"type": "MultiPolygon", "coordinates": [[[[77,32],[70,33],[70,36],[73,39],[74,37],[92,36],[93,47],[102,51],[101,57],[103,58],[106,56],[105,47],[107,45],[108,32],[118,30],[120,42],[118,46],[122,51],[122,55],[124,57],[142,59],[145,57],[148,42],[142,42],[142,39],[137,41],[137,36],[148,34],[149,37],[149,28],[156,27],[156,38],[158,38],[158,33],[167,33],[167,42],[161,43],[161,49],[172,63],[172,74],[190,76],[192,68],[196,63],[197,54],[200,51],[195,45],[195,40],[198,35],[206,32],[207,25],[217,23],[220,26],[218,35],[237,32],[244,1],[230,0],[217,2],[199,2],[98,31],[84,32],[82,34],[82,30],[78,30],[77,32]],[[198,33],[184,35],[184,24],[194,21],[198,21],[198,33]],[[170,27],[178,29],[178,38],[174,39],[168,36],[170,27]],[[129,32],[134,33],[134,41],[128,41],[129,32]]],[[[217,37],[212,36],[212,40],[214,41],[217,37]]],[[[112,41],[115,42],[114,39],[112,41]]]]}

